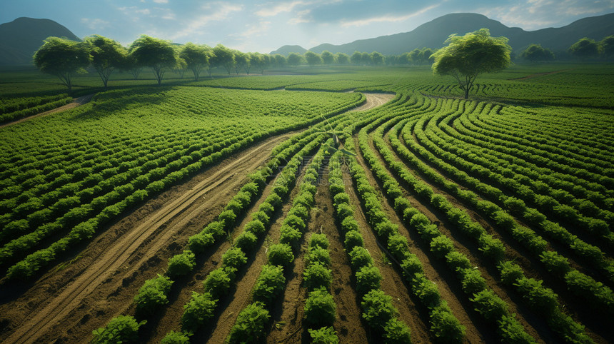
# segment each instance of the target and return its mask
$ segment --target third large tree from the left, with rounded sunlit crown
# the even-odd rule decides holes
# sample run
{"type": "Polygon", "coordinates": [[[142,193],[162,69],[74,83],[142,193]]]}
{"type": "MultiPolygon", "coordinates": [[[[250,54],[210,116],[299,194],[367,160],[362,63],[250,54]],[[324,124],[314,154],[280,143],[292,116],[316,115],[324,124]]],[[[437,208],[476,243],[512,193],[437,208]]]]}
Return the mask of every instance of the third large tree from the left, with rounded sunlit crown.
{"type": "Polygon", "coordinates": [[[164,73],[177,64],[177,53],[170,41],[142,35],[131,46],[132,55],[137,63],[154,71],[158,86],[162,85],[164,73]]]}

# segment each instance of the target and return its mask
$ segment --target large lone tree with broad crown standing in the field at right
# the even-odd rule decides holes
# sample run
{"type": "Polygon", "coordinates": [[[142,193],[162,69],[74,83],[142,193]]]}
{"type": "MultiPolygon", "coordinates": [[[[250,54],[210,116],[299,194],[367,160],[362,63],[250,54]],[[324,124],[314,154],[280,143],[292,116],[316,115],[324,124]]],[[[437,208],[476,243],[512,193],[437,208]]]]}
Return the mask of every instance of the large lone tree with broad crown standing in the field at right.
{"type": "Polygon", "coordinates": [[[469,98],[473,81],[480,73],[495,73],[510,65],[508,39],[491,37],[488,29],[479,29],[465,36],[451,35],[446,40],[448,46],[438,50],[431,67],[440,75],[450,75],[469,98]]]}

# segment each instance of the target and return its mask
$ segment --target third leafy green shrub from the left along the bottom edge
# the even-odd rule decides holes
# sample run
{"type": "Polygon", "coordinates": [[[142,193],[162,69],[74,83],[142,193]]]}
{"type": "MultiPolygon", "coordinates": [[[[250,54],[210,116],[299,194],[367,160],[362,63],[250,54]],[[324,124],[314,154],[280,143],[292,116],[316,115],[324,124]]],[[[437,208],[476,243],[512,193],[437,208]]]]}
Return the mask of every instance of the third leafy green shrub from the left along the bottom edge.
{"type": "Polygon", "coordinates": [[[231,328],[230,343],[256,343],[265,332],[268,310],[260,302],[250,303],[241,310],[231,328]]]}

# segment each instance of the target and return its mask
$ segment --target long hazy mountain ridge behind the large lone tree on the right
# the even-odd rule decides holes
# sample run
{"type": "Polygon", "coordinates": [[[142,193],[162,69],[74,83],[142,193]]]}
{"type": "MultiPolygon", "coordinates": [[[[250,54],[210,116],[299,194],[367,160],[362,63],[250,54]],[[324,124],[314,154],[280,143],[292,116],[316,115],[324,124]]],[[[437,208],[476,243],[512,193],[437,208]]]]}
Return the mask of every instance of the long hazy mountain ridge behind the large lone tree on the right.
{"type": "Polygon", "coordinates": [[[483,27],[490,29],[492,36],[508,37],[510,46],[516,52],[524,49],[528,44],[536,43],[557,53],[566,51],[571,44],[583,37],[601,40],[604,36],[614,34],[614,14],[584,18],[561,28],[536,31],[510,28],[482,14],[446,14],[418,26],[413,31],[373,39],[361,39],[341,45],[321,44],[309,50],[318,54],[328,50],[332,53],[341,52],[348,55],[353,54],[354,51],[379,51],[384,55],[398,55],[416,48],[441,48],[450,34],[463,35],[483,27]]]}

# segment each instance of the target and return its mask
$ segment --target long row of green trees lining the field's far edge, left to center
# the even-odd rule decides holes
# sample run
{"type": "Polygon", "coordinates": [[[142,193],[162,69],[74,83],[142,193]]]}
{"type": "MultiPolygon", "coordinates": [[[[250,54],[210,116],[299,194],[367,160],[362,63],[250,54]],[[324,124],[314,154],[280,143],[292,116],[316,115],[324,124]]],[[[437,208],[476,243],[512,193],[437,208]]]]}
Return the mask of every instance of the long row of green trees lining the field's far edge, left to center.
{"type": "Polygon", "coordinates": [[[211,76],[214,68],[224,69],[228,74],[243,71],[250,74],[254,69],[262,73],[270,67],[301,64],[426,64],[433,62],[432,54],[432,49],[415,49],[399,56],[383,56],[377,51],[371,54],[356,51],[351,56],[329,51],[322,54],[307,51],[305,54],[291,53],[286,58],[281,54],[243,53],[221,44],[213,48],[193,43],[178,45],[146,35],[126,48],[113,39],[94,35],[86,37],[83,42],[49,37],[34,54],[34,64],[44,73],[57,76],[71,92],[73,77],[85,73],[89,66],[96,70],[106,88],[109,77],[117,69],[129,71],[134,79],[138,79],[141,71],[149,68],[154,72],[158,85],[161,85],[164,74],[171,70],[178,71],[182,78],[186,71],[191,71],[194,80],[198,81],[203,70],[211,76]]]}

